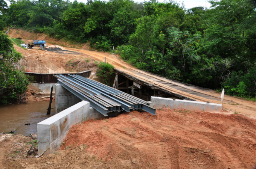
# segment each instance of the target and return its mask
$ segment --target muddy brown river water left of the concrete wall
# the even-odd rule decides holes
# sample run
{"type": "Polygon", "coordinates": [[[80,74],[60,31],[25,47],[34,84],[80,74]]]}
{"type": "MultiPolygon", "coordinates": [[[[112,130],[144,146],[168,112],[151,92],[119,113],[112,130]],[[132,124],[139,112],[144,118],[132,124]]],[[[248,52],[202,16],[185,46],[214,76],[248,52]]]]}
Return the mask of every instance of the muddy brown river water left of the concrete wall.
{"type": "MultiPolygon", "coordinates": [[[[37,123],[55,115],[55,109],[46,115],[49,101],[33,101],[27,104],[0,105],[0,133],[15,131],[14,134],[37,133],[37,123]],[[30,123],[30,125],[25,125],[30,123]]],[[[55,101],[52,101],[52,108],[55,101]]]]}

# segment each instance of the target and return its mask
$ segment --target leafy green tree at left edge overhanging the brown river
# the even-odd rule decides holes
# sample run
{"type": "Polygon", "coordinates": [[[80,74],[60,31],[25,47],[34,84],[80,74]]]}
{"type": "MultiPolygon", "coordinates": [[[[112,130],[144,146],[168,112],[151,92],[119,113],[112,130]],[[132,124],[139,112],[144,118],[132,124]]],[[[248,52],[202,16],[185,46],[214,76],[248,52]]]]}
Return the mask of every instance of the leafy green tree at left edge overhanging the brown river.
{"type": "Polygon", "coordinates": [[[24,72],[17,69],[21,54],[14,50],[11,40],[3,32],[0,32],[0,44],[0,99],[6,104],[24,94],[29,81],[24,72]]]}

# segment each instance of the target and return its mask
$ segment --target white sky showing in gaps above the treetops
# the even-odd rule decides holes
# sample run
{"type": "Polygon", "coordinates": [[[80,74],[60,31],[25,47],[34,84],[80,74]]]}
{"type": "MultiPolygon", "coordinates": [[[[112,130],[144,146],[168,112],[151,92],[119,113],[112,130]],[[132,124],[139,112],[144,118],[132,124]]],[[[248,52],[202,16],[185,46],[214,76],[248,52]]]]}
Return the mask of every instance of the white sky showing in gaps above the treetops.
{"type": "MultiPolygon", "coordinates": [[[[70,2],[73,2],[74,0],[70,0],[70,2]]],[[[77,0],[78,2],[84,2],[86,3],[87,0],[77,0]]],[[[108,0],[106,0],[108,1],[108,0]]],[[[134,0],[134,2],[143,2],[144,0],[134,0]]],[[[147,0],[146,0],[147,1],[147,0]]],[[[10,5],[10,3],[5,0],[5,2],[7,2],[8,5],[10,5]]],[[[164,2],[164,0],[158,0],[158,2],[164,2]]],[[[210,8],[210,3],[207,2],[207,0],[177,0],[178,3],[182,3],[184,2],[185,8],[186,9],[190,9],[190,8],[194,8],[197,6],[203,6],[206,8],[210,8]]]]}

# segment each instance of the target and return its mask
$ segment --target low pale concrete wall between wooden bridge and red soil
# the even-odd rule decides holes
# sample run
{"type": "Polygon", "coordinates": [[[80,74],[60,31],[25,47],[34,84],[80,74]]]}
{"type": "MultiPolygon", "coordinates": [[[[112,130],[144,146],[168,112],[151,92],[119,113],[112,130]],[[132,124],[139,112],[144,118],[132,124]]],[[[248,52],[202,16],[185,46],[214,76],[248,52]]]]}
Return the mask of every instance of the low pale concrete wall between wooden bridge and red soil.
{"type": "Polygon", "coordinates": [[[220,112],[222,109],[221,104],[206,103],[200,101],[189,101],[189,100],[174,100],[171,98],[153,97],[151,96],[151,104],[155,109],[187,109],[187,110],[198,110],[204,112],[220,112]]]}

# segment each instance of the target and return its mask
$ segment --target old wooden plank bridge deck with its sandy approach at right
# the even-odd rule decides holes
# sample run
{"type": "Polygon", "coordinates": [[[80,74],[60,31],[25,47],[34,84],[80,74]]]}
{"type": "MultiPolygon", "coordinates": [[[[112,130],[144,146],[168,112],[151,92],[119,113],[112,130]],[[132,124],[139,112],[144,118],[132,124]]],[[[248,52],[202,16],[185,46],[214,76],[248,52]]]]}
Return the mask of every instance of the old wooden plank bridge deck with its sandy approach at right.
{"type": "MultiPolygon", "coordinates": [[[[115,71],[117,74],[143,86],[169,93],[184,100],[209,101],[210,103],[221,104],[221,93],[217,93],[212,89],[205,89],[191,84],[182,83],[134,68],[115,68],[115,71]]],[[[231,110],[232,112],[252,115],[254,118],[256,117],[256,102],[253,101],[247,101],[241,98],[225,95],[223,108],[231,110]]]]}

